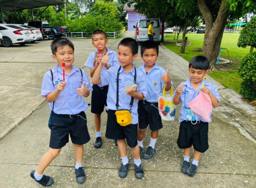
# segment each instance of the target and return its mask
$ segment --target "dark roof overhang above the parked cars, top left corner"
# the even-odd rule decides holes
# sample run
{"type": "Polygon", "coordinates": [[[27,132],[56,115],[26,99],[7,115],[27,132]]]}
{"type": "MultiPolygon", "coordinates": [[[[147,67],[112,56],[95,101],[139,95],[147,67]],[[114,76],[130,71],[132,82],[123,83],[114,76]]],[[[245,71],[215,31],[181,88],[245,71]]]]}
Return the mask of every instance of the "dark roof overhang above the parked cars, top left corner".
{"type": "Polygon", "coordinates": [[[7,11],[32,9],[63,3],[65,3],[64,0],[0,0],[1,8],[7,11]]]}

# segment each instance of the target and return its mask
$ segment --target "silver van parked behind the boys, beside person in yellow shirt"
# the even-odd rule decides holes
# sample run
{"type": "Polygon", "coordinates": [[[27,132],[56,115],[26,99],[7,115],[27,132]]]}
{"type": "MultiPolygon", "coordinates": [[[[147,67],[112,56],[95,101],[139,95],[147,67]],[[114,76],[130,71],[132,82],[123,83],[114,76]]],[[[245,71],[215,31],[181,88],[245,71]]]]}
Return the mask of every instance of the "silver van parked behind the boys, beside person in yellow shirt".
{"type": "Polygon", "coordinates": [[[161,22],[157,18],[148,18],[148,19],[138,19],[136,26],[133,26],[135,28],[135,40],[138,43],[144,42],[146,40],[149,40],[148,38],[148,26],[150,26],[150,22],[154,21],[153,30],[155,35],[153,36],[154,41],[156,41],[158,44],[160,44],[162,40],[162,27],[161,22]]]}

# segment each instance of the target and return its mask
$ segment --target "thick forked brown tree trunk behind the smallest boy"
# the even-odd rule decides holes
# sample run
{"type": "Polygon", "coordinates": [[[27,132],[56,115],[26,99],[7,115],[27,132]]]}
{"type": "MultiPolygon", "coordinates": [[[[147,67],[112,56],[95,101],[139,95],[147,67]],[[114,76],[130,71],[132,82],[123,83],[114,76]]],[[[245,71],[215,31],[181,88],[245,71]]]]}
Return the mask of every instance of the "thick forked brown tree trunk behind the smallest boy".
{"type": "Polygon", "coordinates": [[[205,36],[203,40],[203,56],[210,60],[210,69],[216,70],[216,60],[220,51],[223,32],[226,26],[227,10],[226,0],[222,0],[218,16],[214,21],[210,9],[207,7],[206,0],[198,0],[198,6],[203,19],[205,20],[205,36]]]}

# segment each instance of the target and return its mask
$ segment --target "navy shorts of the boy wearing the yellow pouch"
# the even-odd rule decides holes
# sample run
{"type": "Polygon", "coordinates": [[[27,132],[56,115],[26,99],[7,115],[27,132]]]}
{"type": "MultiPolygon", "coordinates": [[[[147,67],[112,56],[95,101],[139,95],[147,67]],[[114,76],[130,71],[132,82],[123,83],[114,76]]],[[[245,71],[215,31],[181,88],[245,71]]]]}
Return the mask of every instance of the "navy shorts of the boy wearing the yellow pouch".
{"type": "Polygon", "coordinates": [[[131,148],[137,146],[137,124],[120,126],[117,123],[115,110],[108,109],[108,120],[106,122],[106,138],[113,140],[126,139],[127,145],[131,148]]]}

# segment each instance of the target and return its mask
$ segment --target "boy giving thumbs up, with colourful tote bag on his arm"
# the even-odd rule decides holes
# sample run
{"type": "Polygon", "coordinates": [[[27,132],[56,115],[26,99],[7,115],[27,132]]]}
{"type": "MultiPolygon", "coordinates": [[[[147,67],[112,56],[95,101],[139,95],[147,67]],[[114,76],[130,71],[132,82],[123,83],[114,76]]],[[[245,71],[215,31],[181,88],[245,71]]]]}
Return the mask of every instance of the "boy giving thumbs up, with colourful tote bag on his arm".
{"type": "Polygon", "coordinates": [[[158,44],[156,42],[148,40],[141,44],[141,58],[144,64],[139,68],[146,75],[148,95],[143,100],[139,100],[138,105],[139,129],[137,140],[140,156],[143,155],[143,138],[148,124],[151,130],[150,145],[143,155],[144,159],[152,158],[156,152],[155,145],[158,139],[158,130],[162,129],[162,119],[158,111],[158,97],[162,95],[164,85],[165,91],[169,91],[171,87],[168,70],[165,71],[164,68],[156,64],[158,53],[158,44]]]}

